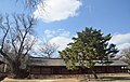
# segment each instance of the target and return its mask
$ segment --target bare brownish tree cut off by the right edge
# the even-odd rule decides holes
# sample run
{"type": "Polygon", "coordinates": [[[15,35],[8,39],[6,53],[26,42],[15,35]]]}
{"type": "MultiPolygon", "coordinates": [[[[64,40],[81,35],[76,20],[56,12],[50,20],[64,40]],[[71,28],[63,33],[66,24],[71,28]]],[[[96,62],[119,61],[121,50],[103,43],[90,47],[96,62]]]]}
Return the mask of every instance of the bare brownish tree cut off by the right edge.
{"type": "Polygon", "coordinates": [[[130,47],[121,51],[121,59],[130,65],[130,47]]]}

